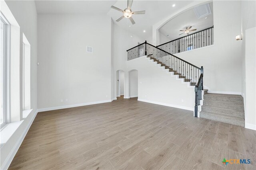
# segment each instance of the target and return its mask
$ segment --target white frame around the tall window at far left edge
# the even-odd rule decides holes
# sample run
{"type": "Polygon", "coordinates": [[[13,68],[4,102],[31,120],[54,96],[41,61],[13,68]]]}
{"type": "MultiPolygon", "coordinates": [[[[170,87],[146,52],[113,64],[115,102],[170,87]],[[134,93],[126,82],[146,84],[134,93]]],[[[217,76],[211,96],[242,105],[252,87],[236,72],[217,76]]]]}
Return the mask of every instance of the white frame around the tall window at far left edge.
{"type": "Polygon", "coordinates": [[[4,43],[3,43],[3,63],[2,63],[2,82],[3,87],[1,88],[1,93],[3,94],[2,101],[2,111],[3,111],[3,123],[0,125],[0,130],[6,127],[7,123],[10,122],[10,23],[4,17],[2,12],[0,13],[0,22],[3,23],[4,31],[4,43]]]}

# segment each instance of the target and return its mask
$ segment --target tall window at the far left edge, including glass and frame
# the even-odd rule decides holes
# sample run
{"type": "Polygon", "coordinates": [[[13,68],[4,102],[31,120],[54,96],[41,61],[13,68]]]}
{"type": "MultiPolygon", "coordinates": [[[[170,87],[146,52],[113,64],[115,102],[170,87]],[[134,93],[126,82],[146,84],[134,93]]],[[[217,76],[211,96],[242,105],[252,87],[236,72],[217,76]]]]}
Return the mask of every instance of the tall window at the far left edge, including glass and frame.
{"type": "Polygon", "coordinates": [[[8,76],[8,21],[4,16],[0,16],[1,33],[0,33],[0,127],[2,128],[7,120],[7,76],[8,76]]]}

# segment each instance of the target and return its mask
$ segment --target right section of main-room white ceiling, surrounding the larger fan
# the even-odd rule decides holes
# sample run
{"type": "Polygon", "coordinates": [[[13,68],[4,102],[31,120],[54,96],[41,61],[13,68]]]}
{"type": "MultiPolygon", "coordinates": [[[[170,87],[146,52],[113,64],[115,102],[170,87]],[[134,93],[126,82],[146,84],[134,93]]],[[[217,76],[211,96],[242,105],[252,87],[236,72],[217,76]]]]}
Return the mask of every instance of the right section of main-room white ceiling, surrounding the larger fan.
{"type": "MultiPolygon", "coordinates": [[[[149,38],[152,38],[152,25],[192,2],[192,0],[134,0],[132,11],[146,10],[146,14],[132,15],[132,18],[136,22],[134,25],[132,25],[128,18],[123,18],[121,21],[116,22],[122,16],[122,12],[111,9],[108,14],[112,17],[114,23],[123,29],[150,41],[151,39],[149,38]],[[172,7],[173,4],[175,4],[175,7],[172,7]],[[146,32],[143,32],[143,30],[146,32]]],[[[127,2],[119,0],[113,6],[124,10],[127,8],[127,2]]]]}

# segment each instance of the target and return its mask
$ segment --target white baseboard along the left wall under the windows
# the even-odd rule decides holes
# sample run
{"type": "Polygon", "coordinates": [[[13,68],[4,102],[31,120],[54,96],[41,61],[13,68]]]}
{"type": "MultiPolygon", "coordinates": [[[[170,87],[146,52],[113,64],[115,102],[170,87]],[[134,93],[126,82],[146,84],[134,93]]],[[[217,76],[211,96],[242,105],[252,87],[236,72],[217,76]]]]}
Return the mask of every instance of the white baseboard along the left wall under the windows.
{"type": "Polygon", "coordinates": [[[38,110],[36,110],[36,112],[34,113],[32,119],[28,123],[26,129],[23,131],[23,133],[21,134],[20,138],[18,139],[18,141],[16,142],[16,144],[12,148],[11,152],[8,154],[6,160],[4,161],[4,163],[1,166],[1,170],[7,170],[8,167],[10,166],[10,164],[12,163],[12,160],[13,160],[15,154],[17,153],[18,149],[20,148],[20,145],[21,145],[22,141],[24,140],[26,134],[28,133],[28,130],[29,130],[30,126],[32,125],[32,123],[33,123],[37,113],[38,113],[38,110]]]}

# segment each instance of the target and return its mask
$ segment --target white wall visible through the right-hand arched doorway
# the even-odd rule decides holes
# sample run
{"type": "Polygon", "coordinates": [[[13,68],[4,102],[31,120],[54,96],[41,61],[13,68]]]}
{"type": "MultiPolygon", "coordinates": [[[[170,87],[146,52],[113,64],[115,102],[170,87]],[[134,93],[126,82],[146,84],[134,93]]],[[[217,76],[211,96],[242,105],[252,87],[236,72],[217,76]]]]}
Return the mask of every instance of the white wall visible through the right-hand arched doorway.
{"type": "Polygon", "coordinates": [[[129,78],[130,98],[138,97],[138,70],[130,71],[129,78]]]}

